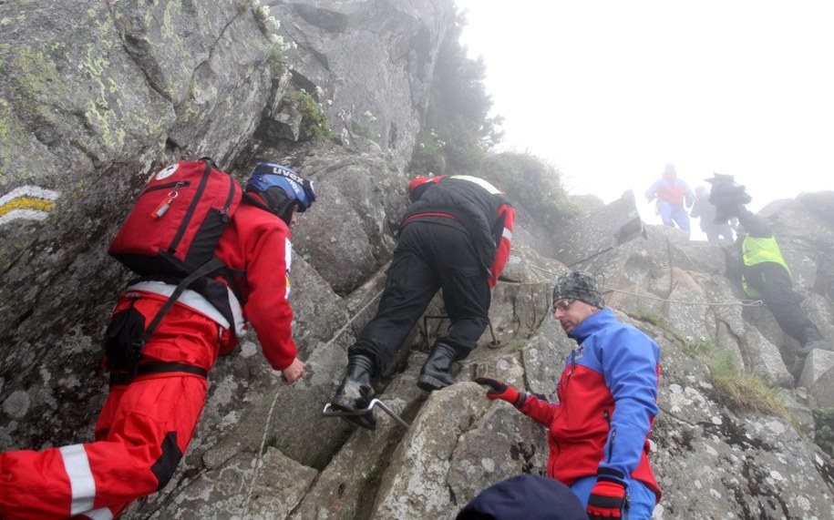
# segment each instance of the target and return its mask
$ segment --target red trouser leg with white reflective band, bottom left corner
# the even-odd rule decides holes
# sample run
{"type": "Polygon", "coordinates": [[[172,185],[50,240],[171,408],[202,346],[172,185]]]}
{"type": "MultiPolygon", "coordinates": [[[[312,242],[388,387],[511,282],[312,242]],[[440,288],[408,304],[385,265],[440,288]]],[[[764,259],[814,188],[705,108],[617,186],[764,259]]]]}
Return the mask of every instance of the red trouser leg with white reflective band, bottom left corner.
{"type": "Polygon", "coordinates": [[[137,380],[108,396],[96,442],[0,454],[0,516],[112,517],[159,491],[185,453],[205,398],[199,376],[137,380]]]}

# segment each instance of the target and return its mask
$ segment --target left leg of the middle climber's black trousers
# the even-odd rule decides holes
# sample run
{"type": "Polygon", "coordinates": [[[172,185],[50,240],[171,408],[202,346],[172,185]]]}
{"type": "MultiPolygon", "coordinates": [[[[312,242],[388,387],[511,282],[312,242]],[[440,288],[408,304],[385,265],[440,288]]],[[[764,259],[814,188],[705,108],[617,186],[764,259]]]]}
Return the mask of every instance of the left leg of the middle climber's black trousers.
{"type": "Polygon", "coordinates": [[[394,362],[440,288],[438,273],[427,256],[427,242],[433,240],[429,235],[435,228],[442,226],[415,221],[402,229],[376,315],[347,350],[348,356],[373,359],[377,373],[386,372],[394,362]]]}

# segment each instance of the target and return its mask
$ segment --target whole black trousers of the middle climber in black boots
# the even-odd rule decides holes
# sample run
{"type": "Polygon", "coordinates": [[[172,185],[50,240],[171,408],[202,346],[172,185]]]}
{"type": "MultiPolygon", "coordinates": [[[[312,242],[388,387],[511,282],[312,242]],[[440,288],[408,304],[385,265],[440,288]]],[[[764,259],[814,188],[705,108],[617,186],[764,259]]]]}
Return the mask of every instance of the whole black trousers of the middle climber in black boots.
{"type": "Polygon", "coordinates": [[[451,326],[435,344],[447,344],[461,360],[489,322],[488,273],[463,229],[423,219],[409,222],[400,231],[379,310],[348,355],[370,357],[376,373],[386,372],[440,289],[451,326]]]}

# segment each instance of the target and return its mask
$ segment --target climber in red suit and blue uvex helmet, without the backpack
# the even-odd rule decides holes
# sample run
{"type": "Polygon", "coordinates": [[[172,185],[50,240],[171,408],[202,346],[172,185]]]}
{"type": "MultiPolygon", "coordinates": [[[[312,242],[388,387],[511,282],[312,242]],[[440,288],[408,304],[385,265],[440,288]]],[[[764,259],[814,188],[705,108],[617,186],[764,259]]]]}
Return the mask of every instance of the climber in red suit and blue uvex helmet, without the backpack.
{"type": "MultiPolygon", "coordinates": [[[[184,291],[145,344],[137,372],[111,372],[94,443],[0,454],[0,518],[114,518],[168,484],[205,406],[208,372],[235,347],[246,321],[274,370],[287,382],[304,375],[287,301],[290,226],[313,204],[313,184],[290,168],[261,163],[245,191],[215,250],[242,299],[224,290],[228,301],[218,305],[184,291]],[[231,308],[235,322],[218,307],[231,308]]],[[[175,287],[132,284],[118,297],[108,331],[118,323],[126,341],[141,334],[175,287]]]]}

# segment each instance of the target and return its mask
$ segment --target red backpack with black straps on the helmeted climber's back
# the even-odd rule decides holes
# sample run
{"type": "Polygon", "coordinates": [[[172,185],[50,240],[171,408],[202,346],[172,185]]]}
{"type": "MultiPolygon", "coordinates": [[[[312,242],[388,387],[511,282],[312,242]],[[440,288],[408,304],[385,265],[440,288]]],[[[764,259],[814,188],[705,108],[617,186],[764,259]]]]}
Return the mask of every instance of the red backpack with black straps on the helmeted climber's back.
{"type": "MultiPolygon", "coordinates": [[[[143,279],[174,283],[177,288],[147,328],[134,327],[143,332],[131,333],[129,341],[118,336],[120,326],[111,321],[105,339],[109,368],[136,370],[144,343],[186,289],[200,292],[227,314],[217,298],[225,297],[225,286],[211,276],[225,274],[228,268],[214,250],[241,199],[238,181],[211,158],[182,160],[150,178],[108,253],[143,279]]],[[[226,317],[233,322],[232,316],[226,317]]]]}

